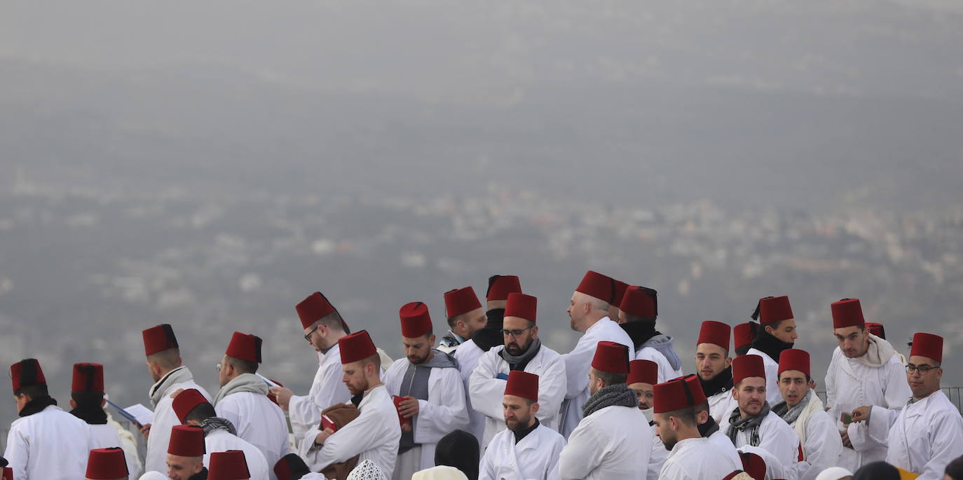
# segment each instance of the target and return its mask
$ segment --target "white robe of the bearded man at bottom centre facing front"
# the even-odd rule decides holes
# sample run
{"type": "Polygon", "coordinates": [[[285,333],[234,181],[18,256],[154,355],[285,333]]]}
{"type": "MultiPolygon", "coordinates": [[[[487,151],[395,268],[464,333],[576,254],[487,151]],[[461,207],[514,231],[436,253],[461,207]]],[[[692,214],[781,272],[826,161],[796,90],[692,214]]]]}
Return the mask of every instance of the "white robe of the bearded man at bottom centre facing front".
{"type": "Polygon", "coordinates": [[[514,432],[502,430],[481,457],[479,480],[559,480],[559,454],[564,446],[559,432],[544,425],[518,443],[514,432]]]}

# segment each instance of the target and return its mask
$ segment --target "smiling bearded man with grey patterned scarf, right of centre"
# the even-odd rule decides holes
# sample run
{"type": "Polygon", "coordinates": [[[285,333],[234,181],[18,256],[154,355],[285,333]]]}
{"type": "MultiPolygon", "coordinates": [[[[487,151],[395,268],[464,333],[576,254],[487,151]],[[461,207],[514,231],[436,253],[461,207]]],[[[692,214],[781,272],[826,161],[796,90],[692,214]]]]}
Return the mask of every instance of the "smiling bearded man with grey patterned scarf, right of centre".
{"type": "Polygon", "coordinates": [[[739,407],[719,419],[720,427],[736,448],[758,446],[777,458],[781,465],[794,468],[799,437],[785,420],[769,409],[763,359],[759,355],[738,357],[732,361],[732,374],[735,382],[732,395],[739,407]]]}

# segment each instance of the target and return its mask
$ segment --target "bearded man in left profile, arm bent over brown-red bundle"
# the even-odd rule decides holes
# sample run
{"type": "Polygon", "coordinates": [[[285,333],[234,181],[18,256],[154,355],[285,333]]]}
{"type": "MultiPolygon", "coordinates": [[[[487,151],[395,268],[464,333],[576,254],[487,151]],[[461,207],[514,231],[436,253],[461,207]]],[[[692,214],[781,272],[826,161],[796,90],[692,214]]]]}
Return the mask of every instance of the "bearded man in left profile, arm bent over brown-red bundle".
{"type": "Polygon", "coordinates": [[[347,462],[357,455],[359,465],[371,460],[386,477],[391,476],[398,459],[402,428],[391,393],[381,383],[381,357],[365,330],[342,337],[338,343],[344,372],[342,381],[354,395],[352,401],[360,398],[357,409],[361,414],[337,431],[315,426],[304,437],[298,453],[311,471],[347,462]]]}

